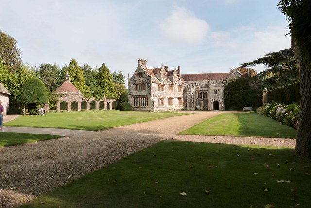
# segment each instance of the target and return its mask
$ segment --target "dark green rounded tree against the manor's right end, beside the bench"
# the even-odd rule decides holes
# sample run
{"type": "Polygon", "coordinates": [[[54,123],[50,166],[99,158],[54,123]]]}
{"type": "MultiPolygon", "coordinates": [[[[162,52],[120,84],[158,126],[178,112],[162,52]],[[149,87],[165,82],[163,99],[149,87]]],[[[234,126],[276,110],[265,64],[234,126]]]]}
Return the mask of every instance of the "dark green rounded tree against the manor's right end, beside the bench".
{"type": "Polygon", "coordinates": [[[250,86],[247,78],[239,77],[232,79],[225,85],[224,91],[225,109],[245,106],[257,107],[261,100],[261,89],[250,86]]]}

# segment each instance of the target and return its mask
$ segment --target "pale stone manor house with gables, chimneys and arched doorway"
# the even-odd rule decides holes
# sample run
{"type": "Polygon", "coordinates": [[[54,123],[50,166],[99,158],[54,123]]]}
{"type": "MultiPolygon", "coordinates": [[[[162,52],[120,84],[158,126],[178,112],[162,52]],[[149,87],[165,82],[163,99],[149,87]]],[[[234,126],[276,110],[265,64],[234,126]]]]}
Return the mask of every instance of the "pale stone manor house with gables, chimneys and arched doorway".
{"type": "Polygon", "coordinates": [[[136,111],[225,110],[224,86],[232,78],[246,76],[238,69],[230,73],[181,74],[180,66],[138,66],[128,77],[129,103],[136,111]]]}

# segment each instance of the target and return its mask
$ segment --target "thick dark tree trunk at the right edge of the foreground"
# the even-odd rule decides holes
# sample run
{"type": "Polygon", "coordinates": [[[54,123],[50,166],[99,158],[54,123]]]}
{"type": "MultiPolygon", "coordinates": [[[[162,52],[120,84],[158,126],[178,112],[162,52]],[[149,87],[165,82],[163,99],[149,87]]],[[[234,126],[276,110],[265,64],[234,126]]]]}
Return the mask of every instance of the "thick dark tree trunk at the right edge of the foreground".
{"type": "Polygon", "coordinates": [[[311,159],[311,57],[301,56],[293,44],[300,71],[300,117],[296,141],[296,154],[311,159]]]}

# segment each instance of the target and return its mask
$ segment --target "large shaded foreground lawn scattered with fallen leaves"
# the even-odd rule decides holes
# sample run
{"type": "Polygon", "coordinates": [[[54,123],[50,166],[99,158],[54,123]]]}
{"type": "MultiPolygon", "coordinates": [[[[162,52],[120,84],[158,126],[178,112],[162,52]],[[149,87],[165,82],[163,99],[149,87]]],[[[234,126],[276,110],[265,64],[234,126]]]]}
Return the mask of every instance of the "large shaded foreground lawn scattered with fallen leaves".
{"type": "Polygon", "coordinates": [[[310,183],[294,149],[161,141],[22,208],[307,208],[310,183]]]}

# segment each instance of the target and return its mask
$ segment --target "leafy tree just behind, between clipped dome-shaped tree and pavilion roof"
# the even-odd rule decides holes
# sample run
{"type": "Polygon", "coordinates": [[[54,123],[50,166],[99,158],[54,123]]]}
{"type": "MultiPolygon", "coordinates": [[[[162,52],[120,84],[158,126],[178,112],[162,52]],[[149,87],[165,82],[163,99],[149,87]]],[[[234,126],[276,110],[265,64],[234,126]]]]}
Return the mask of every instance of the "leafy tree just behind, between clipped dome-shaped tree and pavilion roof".
{"type": "Polygon", "coordinates": [[[56,64],[41,64],[37,74],[38,77],[42,79],[49,92],[54,92],[57,89],[57,79],[60,74],[60,69],[56,64]]]}

